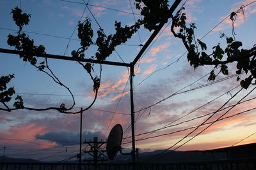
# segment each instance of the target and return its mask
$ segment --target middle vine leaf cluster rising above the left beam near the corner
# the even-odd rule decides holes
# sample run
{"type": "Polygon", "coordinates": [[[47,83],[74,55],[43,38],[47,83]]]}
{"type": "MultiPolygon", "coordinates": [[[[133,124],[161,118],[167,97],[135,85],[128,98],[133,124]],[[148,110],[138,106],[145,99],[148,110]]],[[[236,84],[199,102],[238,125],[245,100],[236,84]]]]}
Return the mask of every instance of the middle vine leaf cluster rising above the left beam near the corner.
{"type": "MultiPolygon", "coordinates": [[[[115,22],[115,34],[110,34],[106,36],[103,29],[99,29],[97,31],[96,45],[98,46],[97,52],[95,56],[91,56],[89,59],[97,59],[97,60],[106,60],[113,51],[115,51],[116,46],[125,43],[132,35],[140,29],[140,25],[142,24],[141,20],[138,20],[134,25],[125,27],[121,26],[121,22],[115,22]]],[[[78,24],[78,38],[80,39],[81,47],[78,50],[72,51],[72,57],[84,58],[85,52],[90,45],[92,45],[93,38],[93,29],[91,20],[86,18],[83,23],[78,24]]],[[[88,73],[93,71],[92,64],[85,64],[84,69],[88,73]]]]}

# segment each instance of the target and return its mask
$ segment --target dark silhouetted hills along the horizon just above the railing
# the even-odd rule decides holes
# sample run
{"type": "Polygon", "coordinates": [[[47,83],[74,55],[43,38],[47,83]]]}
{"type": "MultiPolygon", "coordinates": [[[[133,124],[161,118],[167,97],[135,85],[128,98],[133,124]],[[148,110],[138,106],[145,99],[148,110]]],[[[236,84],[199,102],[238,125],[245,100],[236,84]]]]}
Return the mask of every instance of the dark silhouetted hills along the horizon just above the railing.
{"type": "MultiPolygon", "coordinates": [[[[143,152],[139,154],[138,162],[151,163],[175,163],[175,162],[205,162],[212,160],[234,160],[234,159],[255,159],[256,143],[248,145],[232,146],[227,148],[218,148],[204,151],[167,151],[155,150],[154,152],[143,152]]],[[[83,158],[84,159],[84,158],[83,158]]],[[[87,160],[92,160],[88,157],[87,160]]],[[[106,157],[102,157],[106,159],[106,157]]],[[[0,162],[40,162],[35,159],[17,159],[10,157],[0,157],[0,162]]],[[[58,162],[52,160],[51,162],[58,162]]],[[[67,163],[78,163],[79,159],[67,161],[67,163]]],[[[84,161],[83,161],[84,162],[84,161]]],[[[132,162],[131,155],[116,155],[114,160],[108,160],[107,163],[125,163],[132,162]]]]}

